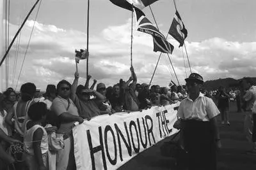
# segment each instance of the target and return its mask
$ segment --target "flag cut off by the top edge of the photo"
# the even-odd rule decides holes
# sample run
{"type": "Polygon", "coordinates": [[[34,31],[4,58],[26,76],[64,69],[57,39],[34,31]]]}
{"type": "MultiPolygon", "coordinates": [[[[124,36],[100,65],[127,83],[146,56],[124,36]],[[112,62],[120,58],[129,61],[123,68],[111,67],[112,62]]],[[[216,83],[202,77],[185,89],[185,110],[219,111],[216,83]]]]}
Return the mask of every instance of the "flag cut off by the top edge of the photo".
{"type": "Polygon", "coordinates": [[[132,4],[136,8],[139,8],[140,10],[142,10],[146,6],[158,0],[109,0],[109,1],[111,1],[111,3],[115,4],[116,6],[132,11],[132,4]]]}

